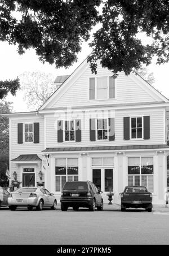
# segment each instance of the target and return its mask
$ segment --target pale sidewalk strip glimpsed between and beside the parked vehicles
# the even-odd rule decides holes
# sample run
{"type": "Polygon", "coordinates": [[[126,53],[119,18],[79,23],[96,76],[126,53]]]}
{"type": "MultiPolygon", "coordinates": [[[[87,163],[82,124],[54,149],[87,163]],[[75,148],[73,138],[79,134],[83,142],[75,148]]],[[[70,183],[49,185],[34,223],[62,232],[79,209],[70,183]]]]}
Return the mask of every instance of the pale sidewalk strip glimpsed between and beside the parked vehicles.
{"type": "MultiPolygon", "coordinates": [[[[57,202],[57,209],[60,209],[60,202],[57,202]]],[[[108,203],[104,203],[104,210],[105,211],[121,211],[121,206],[117,203],[113,203],[113,205],[109,205],[108,203]]],[[[153,211],[168,211],[169,212],[169,205],[153,205],[153,211]]]]}

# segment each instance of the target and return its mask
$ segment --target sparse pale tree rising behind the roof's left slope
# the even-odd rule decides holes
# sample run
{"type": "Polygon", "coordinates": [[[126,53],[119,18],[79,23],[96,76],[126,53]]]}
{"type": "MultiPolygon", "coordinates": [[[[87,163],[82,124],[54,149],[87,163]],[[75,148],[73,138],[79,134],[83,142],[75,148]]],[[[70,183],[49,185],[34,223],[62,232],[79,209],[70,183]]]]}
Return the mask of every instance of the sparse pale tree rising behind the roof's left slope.
{"type": "Polygon", "coordinates": [[[19,76],[24,101],[30,110],[37,110],[56,90],[54,76],[44,72],[24,72],[19,76]]]}

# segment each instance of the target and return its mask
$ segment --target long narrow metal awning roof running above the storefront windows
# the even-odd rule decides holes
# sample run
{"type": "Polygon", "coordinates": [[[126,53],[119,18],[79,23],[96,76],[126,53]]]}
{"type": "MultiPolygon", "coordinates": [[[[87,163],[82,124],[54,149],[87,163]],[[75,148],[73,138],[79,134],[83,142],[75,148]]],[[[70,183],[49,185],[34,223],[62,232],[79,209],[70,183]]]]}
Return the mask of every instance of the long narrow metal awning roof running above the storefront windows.
{"type": "Polygon", "coordinates": [[[167,145],[126,145],[126,146],[94,146],[94,147],[47,147],[42,152],[59,151],[94,151],[94,150],[143,150],[143,149],[169,149],[167,145]]]}

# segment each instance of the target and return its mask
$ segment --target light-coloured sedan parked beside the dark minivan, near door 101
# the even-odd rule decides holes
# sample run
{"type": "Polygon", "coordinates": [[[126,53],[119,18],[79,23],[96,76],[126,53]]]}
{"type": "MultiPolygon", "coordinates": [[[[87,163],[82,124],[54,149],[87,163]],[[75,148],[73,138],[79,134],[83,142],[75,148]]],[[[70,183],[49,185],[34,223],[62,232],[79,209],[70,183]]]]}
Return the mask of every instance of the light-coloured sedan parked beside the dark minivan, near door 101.
{"type": "Polygon", "coordinates": [[[8,205],[12,211],[17,207],[28,207],[28,210],[32,210],[33,207],[36,207],[37,210],[50,207],[56,210],[57,201],[54,194],[48,192],[47,189],[29,186],[18,188],[12,192],[11,197],[8,197],[8,205]]]}

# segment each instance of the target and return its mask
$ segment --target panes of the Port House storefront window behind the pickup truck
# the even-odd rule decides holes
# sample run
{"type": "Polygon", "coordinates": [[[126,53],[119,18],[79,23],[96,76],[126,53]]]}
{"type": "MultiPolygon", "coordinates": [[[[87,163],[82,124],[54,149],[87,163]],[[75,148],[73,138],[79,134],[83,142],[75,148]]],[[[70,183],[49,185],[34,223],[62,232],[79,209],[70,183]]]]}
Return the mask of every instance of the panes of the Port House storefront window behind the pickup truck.
{"type": "Polygon", "coordinates": [[[146,186],[150,192],[153,192],[153,173],[153,157],[128,158],[128,186],[146,186]]]}

